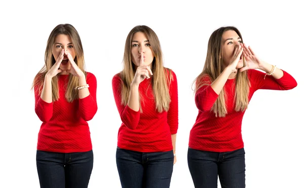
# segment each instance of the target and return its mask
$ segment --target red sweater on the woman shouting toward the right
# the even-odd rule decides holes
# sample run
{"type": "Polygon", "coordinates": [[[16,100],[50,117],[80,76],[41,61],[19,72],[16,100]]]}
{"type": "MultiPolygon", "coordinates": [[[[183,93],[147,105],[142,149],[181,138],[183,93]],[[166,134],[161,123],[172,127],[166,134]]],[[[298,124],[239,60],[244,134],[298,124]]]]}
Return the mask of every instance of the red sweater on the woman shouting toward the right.
{"type": "MultiPolygon", "coordinates": [[[[253,93],[258,89],[289,90],[296,87],[297,83],[290,74],[284,72],[281,79],[266,76],[258,70],[248,70],[248,78],[251,84],[249,101],[253,93]]],[[[209,78],[208,78],[209,80],[209,78]]],[[[245,111],[234,110],[235,79],[227,80],[224,85],[227,96],[227,113],[223,118],[216,118],[211,107],[218,95],[211,86],[201,87],[195,96],[195,102],[199,109],[197,120],[190,132],[189,147],[210,152],[230,152],[244,147],[241,126],[245,111]]]]}

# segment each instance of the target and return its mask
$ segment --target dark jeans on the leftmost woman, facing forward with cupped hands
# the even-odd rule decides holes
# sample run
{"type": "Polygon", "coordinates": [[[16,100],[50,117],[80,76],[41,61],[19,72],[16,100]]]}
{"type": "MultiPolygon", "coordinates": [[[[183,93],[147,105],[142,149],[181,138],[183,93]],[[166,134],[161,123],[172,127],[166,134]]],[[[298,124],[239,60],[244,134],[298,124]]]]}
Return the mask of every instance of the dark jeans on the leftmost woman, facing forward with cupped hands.
{"type": "Polygon", "coordinates": [[[68,154],[37,151],[36,164],[42,188],[87,188],[93,151],[68,154]]]}

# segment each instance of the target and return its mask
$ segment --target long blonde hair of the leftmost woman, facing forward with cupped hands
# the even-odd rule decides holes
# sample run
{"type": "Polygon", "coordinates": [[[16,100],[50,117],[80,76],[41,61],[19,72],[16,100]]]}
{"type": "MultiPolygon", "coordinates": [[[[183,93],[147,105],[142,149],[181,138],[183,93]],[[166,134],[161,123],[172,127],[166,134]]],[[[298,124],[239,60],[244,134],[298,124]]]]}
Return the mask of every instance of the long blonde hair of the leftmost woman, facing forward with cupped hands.
{"type": "MultiPolygon", "coordinates": [[[[59,24],[52,30],[49,36],[47,42],[47,48],[45,52],[45,65],[36,74],[33,81],[32,88],[37,87],[39,91],[35,91],[35,92],[38,92],[39,95],[42,92],[46,73],[51,69],[51,67],[56,62],[56,59],[53,56],[53,46],[55,43],[55,38],[58,34],[66,34],[71,37],[73,48],[75,49],[75,53],[76,53],[74,61],[78,65],[78,67],[85,73],[85,75],[87,75],[86,71],[84,70],[85,69],[84,50],[77,30],[70,24],[59,24]]],[[[79,98],[78,92],[73,89],[77,86],[78,86],[78,77],[74,77],[72,74],[69,74],[68,85],[65,92],[65,98],[68,102],[72,102],[74,99],[79,98]]],[[[57,74],[57,76],[52,78],[52,100],[56,101],[58,99],[59,99],[59,90],[58,90],[58,74],[57,74]]]]}

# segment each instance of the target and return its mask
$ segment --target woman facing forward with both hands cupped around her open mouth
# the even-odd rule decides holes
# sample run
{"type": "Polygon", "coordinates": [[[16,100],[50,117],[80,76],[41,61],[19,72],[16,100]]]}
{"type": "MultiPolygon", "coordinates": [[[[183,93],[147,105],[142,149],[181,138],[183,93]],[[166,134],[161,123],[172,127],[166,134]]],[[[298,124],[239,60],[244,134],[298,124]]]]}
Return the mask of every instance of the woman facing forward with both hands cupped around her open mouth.
{"type": "Polygon", "coordinates": [[[93,152],[87,121],[97,111],[97,84],[84,68],[77,30],[70,24],[57,25],[33,84],[35,112],[43,122],[36,154],[41,187],[88,187],[93,152]]]}

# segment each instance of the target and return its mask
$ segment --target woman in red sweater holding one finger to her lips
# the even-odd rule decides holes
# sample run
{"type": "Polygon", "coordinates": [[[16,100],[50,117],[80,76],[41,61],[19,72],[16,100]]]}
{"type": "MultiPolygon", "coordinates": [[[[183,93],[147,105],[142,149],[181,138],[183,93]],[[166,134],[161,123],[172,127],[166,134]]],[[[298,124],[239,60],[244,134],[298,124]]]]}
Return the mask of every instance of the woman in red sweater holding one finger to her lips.
{"type": "Polygon", "coordinates": [[[127,36],[124,69],[112,79],[122,120],[117,168],[122,187],[169,187],[178,127],[175,73],[163,67],[156,33],[134,27],[127,36]]]}

